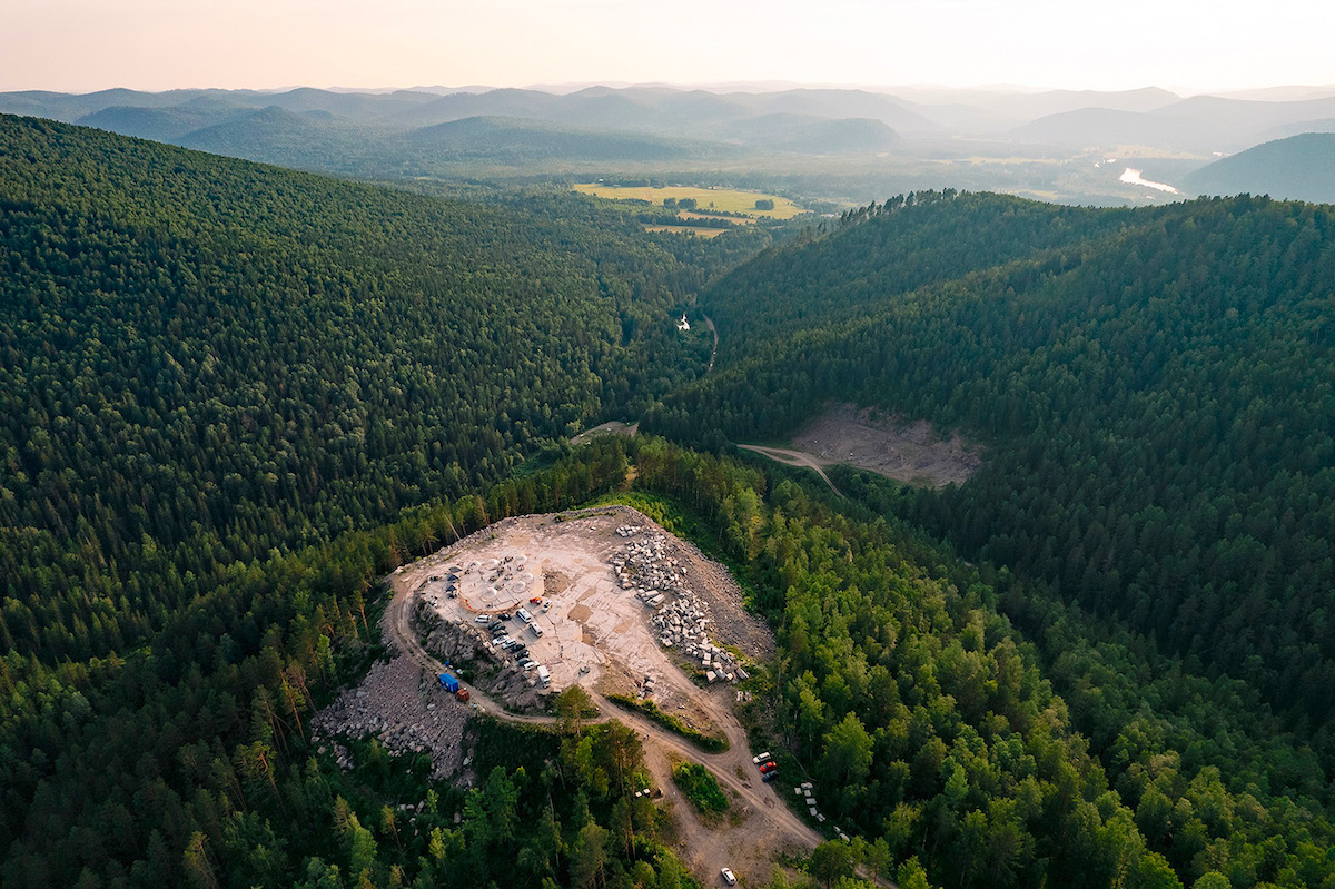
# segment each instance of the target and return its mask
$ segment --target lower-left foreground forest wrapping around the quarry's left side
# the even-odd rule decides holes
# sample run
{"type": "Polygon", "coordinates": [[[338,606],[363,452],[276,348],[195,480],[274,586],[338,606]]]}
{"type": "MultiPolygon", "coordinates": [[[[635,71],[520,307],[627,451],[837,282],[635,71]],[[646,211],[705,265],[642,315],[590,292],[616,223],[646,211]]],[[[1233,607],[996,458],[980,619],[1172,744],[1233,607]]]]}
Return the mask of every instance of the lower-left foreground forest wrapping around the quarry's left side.
{"type": "Polygon", "coordinates": [[[430,782],[427,758],[391,758],[374,739],[354,745],[356,769],[343,773],[306,734],[315,706],[383,654],[378,578],[489,517],[566,506],[625,471],[623,454],[594,447],[486,497],[218,565],[207,594],[124,657],[45,669],[7,653],[0,882],[537,888],[645,868],[681,878],[654,809],[627,793],[639,748],[617,726],[565,744],[495,727],[471,792],[430,782]]]}

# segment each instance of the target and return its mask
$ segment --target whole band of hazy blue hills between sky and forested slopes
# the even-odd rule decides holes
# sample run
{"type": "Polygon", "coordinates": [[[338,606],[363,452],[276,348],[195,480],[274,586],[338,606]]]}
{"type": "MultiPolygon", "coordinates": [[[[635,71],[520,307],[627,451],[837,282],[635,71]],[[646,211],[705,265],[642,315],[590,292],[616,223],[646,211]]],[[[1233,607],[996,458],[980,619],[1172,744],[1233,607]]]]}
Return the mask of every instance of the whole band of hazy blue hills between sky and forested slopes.
{"type": "Polygon", "coordinates": [[[246,160],[390,180],[684,179],[853,204],[967,188],[1077,204],[1176,200],[1215,158],[1335,131],[1335,92],[665,84],[0,93],[49,117],[246,160]],[[445,124],[459,124],[443,127],[445,124]],[[435,129],[442,127],[441,129],[435,129]],[[1105,163],[1119,159],[1117,164],[1105,163]],[[1123,166],[1123,163],[1125,166],[1123,166]]]}

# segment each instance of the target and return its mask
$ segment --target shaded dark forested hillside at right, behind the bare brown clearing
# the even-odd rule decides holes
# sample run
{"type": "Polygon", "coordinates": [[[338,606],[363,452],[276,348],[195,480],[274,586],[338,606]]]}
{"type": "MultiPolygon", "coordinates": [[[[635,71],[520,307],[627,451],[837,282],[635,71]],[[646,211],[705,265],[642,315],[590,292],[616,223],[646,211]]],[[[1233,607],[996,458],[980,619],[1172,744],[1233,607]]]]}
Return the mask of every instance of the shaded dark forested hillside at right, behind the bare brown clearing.
{"type": "Polygon", "coordinates": [[[706,310],[724,343],[732,319],[748,338],[646,427],[765,439],[837,399],[965,430],[988,443],[988,465],[963,487],[916,494],[918,521],[1193,670],[1246,679],[1328,770],[1330,210],[917,203],[888,202],[721,280],[706,310]],[[1012,259],[1011,220],[1027,216],[1047,236],[1032,251],[1017,242],[1012,259]],[[951,247],[877,246],[943,220],[959,276],[943,271],[951,247]],[[812,303],[829,323],[813,324],[812,303]],[[764,336],[750,335],[756,315],[764,336]]]}

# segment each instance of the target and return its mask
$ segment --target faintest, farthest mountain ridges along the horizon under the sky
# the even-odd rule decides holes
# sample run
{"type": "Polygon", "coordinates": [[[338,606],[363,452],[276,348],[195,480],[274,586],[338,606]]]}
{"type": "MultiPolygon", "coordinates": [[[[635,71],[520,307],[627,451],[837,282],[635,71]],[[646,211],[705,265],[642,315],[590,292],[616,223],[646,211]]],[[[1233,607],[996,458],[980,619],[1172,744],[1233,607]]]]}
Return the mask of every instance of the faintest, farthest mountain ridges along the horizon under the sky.
{"type": "MultiPolygon", "coordinates": [[[[85,95],[0,93],[0,112],[84,123],[124,135],[172,133],[192,120],[223,123],[224,108],[326,112],[342,123],[403,131],[466,117],[519,117],[575,128],[623,129],[708,140],[705,125],[736,127],[766,115],[878,120],[905,136],[1007,135],[1065,145],[1144,141],[1192,151],[1238,151],[1302,121],[1335,119],[1335,88],[1274,88],[1181,97],[1145,87],[1119,92],[1043,92],[782,87],[768,91],[587,85],[578,89],[422,87],[379,92],[299,87],[254,89],[105,89],[85,95]],[[127,109],[159,109],[160,116],[127,109]],[[116,109],[112,113],[112,109],[116,109]],[[166,109],[175,109],[167,115],[166,109]],[[212,119],[210,115],[215,115],[212,119]]],[[[1292,132],[1290,129],[1288,132],[1292,132]]],[[[1288,135],[1283,132],[1282,135],[1288,135]]]]}

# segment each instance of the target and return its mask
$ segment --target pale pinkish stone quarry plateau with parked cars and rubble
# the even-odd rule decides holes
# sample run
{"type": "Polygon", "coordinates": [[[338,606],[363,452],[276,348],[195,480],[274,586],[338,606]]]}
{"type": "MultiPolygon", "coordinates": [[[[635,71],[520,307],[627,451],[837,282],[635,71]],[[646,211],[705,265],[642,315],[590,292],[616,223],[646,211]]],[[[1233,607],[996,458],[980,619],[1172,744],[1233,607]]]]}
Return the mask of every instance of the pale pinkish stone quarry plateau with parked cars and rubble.
{"type": "Polygon", "coordinates": [[[503,681],[529,699],[574,683],[630,686],[676,707],[698,694],[684,659],[728,682],[774,654],[726,569],[623,506],[503,519],[400,578],[418,633],[450,630],[450,651],[469,653],[478,687],[503,681]]]}

